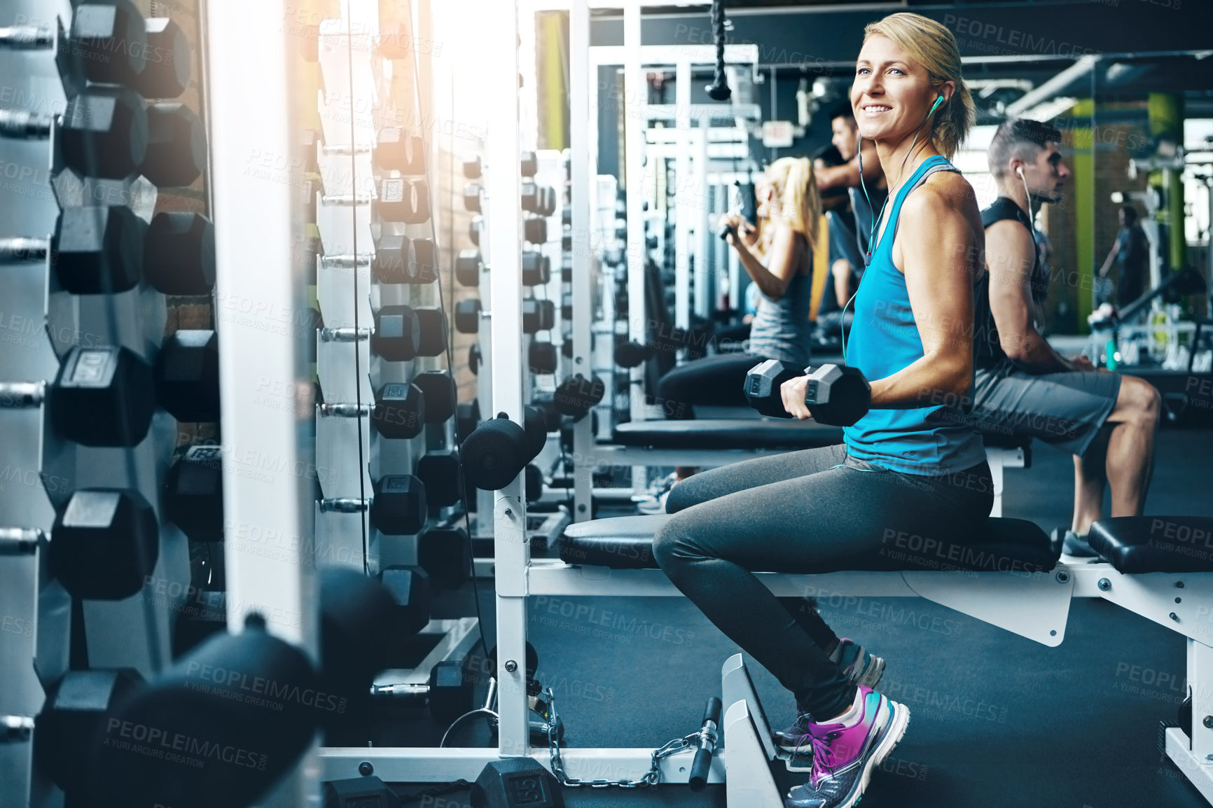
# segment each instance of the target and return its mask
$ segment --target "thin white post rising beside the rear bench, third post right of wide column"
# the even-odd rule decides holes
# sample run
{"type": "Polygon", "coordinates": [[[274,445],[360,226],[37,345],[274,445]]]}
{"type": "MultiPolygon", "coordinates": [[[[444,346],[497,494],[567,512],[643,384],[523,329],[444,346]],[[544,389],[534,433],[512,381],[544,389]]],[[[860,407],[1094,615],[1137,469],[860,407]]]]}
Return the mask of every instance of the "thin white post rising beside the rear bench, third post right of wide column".
{"type": "MultiPolygon", "coordinates": [[[[644,107],[648,85],[640,69],[640,0],[623,6],[623,182],[627,184],[627,331],[628,338],[645,345],[644,311],[644,107]]],[[[640,394],[644,368],[628,371],[628,400],[633,421],[644,420],[640,394]]],[[[643,472],[642,472],[643,473],[643,472]]]]}

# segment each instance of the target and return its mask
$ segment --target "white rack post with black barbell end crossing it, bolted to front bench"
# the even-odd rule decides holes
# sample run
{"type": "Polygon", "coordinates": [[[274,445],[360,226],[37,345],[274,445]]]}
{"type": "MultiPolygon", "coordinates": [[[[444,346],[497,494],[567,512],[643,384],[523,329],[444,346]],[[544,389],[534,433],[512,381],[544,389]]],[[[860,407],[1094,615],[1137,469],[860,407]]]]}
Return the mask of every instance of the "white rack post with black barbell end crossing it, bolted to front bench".
{"type": "MultiPolygon", "coordinates": [[[[485,64],[489,72],[490,131],[485,143],[489,233],[492,241],[490,332],[492,334],[492,417],[505,412],[523,422],[522,377],[522,171],[518,158],[518,2],[486,0],[484,22],[492,32],[485,64]]],[[[534,90],[533,90],[534,91],[534,90]]],[[[484,371],[482,371],[484,372],[484,371]]],[[[502,757],[529,750],[526,704],[526,514],[520,478],[496,491],[494,552],[497,590],[497,682],[500,715],[497,752],[502,757]],[[509,668],[513,668],[512,671],[509,668]]]]}

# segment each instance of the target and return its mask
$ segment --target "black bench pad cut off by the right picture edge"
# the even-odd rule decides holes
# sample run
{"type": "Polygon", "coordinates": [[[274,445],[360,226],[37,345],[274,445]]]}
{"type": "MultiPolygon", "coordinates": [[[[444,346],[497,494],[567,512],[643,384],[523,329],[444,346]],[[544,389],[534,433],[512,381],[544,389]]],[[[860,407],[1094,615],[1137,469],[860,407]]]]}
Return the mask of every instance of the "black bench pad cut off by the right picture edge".
{"type": "Polygon", "coordinates": [[[1213,517],[1100,519],[1088,539],[1122,573],[1213,571],[1213,517]]]}

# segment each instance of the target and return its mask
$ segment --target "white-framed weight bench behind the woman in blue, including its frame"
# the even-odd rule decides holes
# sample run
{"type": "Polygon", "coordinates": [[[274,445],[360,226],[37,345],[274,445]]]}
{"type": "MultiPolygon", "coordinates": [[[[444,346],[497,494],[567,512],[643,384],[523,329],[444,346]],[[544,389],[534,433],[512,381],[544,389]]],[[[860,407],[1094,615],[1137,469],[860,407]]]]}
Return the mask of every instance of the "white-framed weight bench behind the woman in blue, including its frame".
{"type": "MultiPolygon", "coordinates": [[[[784,419],[711,419],[694,421],[631,421],[615,427],[614,445],[594,446],[605,466],[728,466],[784,451],[842,443],[842,427],[784,419]]],[[[986,461],[993,478],[993,510],[1002,516],[1004,468],[1032,465],[1031,438],[984,436],[986,461]]]]}

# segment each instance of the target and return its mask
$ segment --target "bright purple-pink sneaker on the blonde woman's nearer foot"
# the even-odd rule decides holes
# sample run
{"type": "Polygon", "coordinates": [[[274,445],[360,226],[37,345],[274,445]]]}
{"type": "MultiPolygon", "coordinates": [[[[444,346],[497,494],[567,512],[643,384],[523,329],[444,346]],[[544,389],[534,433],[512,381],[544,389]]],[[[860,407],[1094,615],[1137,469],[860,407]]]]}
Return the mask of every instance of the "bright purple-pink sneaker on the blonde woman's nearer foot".
{"type": "Polygon", "coordinates": [[[910,724],[910,709],[860,687],[862,716],[852,724],[810,723],[809,781],[784,798],[785,808],[852,808],[867,787],[872,769],[888,757],[910,724]]]}

